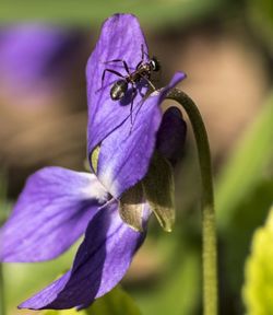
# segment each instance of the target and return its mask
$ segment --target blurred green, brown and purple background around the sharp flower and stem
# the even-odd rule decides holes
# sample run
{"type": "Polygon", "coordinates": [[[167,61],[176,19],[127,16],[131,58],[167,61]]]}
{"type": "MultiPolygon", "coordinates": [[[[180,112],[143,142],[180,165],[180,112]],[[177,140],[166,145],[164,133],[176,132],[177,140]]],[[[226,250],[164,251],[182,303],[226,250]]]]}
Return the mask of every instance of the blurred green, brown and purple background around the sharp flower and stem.
{"type": "MultiPolygon", "coordinates": [[[[150,54],[162,63],[157,86],[175,71],[186,72],[179,88],[203,115],[215,178],[221,314],[272,314],[273,305],[271,312],[251,308],[264,303],[248,294],[245,267],[273,200],[271,0],[2,1],[1,224],[33,172],[47,165],[85,170],[85,65],[103,21],[116,12],[140,19],[150,54]]],[[[122,281],[143,314],[202,314],[200,175],[188,127],[175,170],[174,232],[164,233],[152,220],[122,281]]],[[[16,305],[68,269],[75,249],[45,264],[1,266],[8,314],[32,314],[16,305]]],[[[272,279],[265,281],[271,298],[272,279]]]]}

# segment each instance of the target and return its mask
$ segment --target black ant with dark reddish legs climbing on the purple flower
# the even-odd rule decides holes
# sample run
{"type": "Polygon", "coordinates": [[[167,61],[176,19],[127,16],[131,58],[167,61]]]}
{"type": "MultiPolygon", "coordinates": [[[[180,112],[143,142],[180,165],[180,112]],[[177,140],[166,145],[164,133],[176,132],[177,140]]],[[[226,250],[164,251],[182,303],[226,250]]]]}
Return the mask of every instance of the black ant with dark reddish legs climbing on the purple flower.
{"type": "MultiPolygon", "coordinates": [[[[128,91],[128,85],[132,85],[132,100],[134,98],[136,94],[136,83],[139,83],[141,80],[145,80],[149,85],[155,91],[154,84],[150,81],[151,74],[153,71],[159,71],[161,70],[161,63],[156,59],[156,57],[151,58],[147,62],[144,62],[144,55],[149,57],[147,54],[144,52],[144,46],[141,45],[141,50],[142,50],[142,57],[141,61],[136,65],[135,70],[130,72],[129,67],[127,62],[122,59],[114,59],[106,61],[105,63],[110,63],[110,62],[122,62],[123,67],[126,69],[126,72],[128,73],[127,75],[123,75],[119,73],[118,71],[115,71],[112,69],[105,69],[103,72],[102,77],[102,86],[104,83],[105,74],[106,72],[114,73],[122,79],[116,81],[110,90],[110,97],[112,101],[120,101],[124,97],[127,91],[128,91]]],[[[132,104],[131,104],[131,110],[132,110],[132,104]]]]}

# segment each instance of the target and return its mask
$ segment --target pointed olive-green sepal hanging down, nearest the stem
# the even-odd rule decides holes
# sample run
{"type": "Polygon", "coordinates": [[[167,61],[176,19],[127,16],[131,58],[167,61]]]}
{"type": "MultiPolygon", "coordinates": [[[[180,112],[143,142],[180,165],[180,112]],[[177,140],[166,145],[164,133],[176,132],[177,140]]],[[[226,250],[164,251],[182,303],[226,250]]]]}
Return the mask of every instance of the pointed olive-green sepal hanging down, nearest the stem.
{"type": "Polygon", "coordinates": [[[142,180],[144,195],[162,228],[170,232],[175,222],[175,183],[170,164],[155,152],[142,180]]]}

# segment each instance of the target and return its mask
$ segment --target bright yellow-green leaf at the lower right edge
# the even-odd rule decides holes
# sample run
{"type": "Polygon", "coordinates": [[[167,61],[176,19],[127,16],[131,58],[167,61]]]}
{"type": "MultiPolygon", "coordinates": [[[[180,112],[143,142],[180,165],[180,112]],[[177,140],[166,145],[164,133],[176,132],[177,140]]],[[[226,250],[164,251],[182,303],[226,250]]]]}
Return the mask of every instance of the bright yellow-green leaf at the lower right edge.
{"type": "MultiPolygon", "coordinates": [[[[258,210],[258,209],[257,209],[258,210]]],[[[273,207],[263,228],[256,231],[246,262],[244,301],[249,315],[273,314],[273,207]]]]}

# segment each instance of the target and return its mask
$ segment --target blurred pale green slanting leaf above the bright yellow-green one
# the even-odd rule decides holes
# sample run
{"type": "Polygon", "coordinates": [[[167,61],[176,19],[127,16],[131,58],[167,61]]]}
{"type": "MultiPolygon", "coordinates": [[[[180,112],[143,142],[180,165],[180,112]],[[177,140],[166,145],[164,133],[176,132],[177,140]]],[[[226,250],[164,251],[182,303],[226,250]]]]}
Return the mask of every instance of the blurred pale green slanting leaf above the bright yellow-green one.
{"type": "Polygon", "coordinates": [[[222,231],[227,230],[238,205],[266,177],[273,161],[272,126],[273,93],[217,178],[215,203],[217,225],[222,231]]]}

